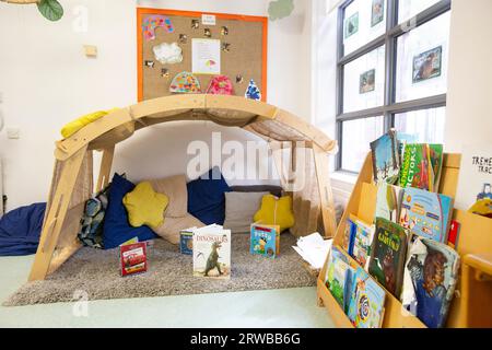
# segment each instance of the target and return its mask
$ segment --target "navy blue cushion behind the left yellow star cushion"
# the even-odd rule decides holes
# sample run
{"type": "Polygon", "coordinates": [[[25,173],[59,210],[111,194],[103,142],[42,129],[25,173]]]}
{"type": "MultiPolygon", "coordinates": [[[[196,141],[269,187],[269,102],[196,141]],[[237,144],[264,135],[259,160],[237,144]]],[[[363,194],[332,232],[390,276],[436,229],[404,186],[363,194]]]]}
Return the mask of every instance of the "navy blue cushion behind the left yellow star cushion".
{"type": "Polygon", "coordinates": [[[115,248],[133,237],[139,237],[139,241],[142,242],[153,240],[156,236],[149,226],[132,228],[128,222],[128,213],[122,199],[133,188],[134,184],[115,173],[104,218],[103,242],[105,249],[115,248]]]}

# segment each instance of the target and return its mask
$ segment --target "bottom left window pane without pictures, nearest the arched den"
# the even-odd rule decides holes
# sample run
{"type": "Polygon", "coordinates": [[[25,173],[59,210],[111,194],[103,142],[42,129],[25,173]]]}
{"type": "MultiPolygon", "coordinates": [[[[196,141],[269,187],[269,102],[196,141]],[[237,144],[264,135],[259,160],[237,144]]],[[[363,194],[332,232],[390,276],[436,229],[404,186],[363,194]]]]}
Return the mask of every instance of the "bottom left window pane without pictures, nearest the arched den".
{"type": "Polygon", "coordinates": [[[342,170],[359,172],[370,151],[370,142],[383,135],[384,118],[373,117],[343,121],[342,170]]]}

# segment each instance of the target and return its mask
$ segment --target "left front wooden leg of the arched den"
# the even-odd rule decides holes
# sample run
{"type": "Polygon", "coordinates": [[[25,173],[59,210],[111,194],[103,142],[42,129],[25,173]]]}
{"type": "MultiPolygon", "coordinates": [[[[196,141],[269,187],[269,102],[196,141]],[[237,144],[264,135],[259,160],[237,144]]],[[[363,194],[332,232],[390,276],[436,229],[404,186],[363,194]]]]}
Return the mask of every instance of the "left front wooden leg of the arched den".
{"type": "Polygon", "coordinates": [[[36,257],[31,269],[28,280],[43,280],[46,278],[52,254],[58,244],[58,237],[69,209],[70,200],[79,175],[82,161],[85,156],[86,147],[63,162],[60,180],[51,198],[51,205],[45,215],[43,231],[37,247],[36,257]]]}

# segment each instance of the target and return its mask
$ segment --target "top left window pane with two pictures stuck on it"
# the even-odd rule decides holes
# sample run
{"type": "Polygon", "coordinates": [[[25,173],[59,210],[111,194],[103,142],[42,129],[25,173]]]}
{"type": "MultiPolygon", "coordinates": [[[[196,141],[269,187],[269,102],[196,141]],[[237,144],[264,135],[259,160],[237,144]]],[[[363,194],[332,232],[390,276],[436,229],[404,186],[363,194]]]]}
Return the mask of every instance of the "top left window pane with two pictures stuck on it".
{"type": "Polygon", "coordinates": [[[348,55],[386,31],[386,0],[355,0],[343,19],[343,55],[348,55]]]}

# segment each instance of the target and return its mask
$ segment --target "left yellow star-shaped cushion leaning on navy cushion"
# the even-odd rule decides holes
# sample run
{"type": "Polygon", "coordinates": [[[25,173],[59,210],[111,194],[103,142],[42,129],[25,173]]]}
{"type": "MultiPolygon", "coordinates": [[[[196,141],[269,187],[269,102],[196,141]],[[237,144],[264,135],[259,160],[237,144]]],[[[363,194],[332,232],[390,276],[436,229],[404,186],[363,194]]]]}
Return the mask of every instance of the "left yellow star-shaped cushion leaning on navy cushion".
{"type": "Polygon", "coordinates": [[[143,182],[124,197],[128,211],[128,221],[133,228],[148,225],[157,229],[164,222],[164,210],[169,200],[166,195],[157,194],[149,182],[143,182]]]}

